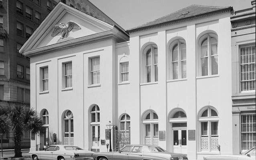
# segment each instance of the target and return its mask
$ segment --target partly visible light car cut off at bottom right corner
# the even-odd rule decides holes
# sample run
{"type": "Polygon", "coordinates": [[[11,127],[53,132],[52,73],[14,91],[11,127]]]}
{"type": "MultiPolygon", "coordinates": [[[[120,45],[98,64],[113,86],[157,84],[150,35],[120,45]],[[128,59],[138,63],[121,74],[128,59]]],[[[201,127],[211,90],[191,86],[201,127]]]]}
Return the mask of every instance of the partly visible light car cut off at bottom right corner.
{"type": "Polygon", "coordinates": [[[206,156],[204,160],[255,160],[255,147],[240,155],[215,155],[206,156]]]}

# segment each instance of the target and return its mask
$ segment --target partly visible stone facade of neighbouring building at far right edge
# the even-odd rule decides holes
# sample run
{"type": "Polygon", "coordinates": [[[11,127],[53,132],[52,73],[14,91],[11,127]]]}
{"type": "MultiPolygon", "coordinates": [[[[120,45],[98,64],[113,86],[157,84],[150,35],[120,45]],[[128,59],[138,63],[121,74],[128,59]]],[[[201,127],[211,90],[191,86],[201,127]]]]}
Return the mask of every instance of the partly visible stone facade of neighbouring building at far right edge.
{"type": "Polygon", "coordinates": [[[231,16],[233,153],[255,146],[255,0],[231,16]]]}

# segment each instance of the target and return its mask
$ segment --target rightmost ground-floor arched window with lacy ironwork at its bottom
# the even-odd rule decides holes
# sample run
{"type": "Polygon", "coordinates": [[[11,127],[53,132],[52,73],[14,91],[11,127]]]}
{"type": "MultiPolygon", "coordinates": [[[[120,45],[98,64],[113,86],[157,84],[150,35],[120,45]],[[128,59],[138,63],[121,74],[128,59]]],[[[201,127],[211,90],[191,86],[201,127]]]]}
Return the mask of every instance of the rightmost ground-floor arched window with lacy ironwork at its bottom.
{"type": "Polygon", "coordinates": [[[207,106],[199,113],[199,126],[201,130],[201,151],[217,151],[219,144],[218,123],[219,117],[215,109],[207,106]]]}

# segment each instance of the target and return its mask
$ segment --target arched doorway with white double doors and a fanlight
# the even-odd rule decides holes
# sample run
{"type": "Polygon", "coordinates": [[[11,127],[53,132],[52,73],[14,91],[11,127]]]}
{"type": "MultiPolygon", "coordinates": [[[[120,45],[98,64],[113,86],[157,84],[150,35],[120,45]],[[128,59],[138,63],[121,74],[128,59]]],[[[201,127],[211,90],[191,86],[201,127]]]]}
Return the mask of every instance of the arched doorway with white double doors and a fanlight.
{"type": "Polygon", "coordinates": [[[187,154],[187,116],[185,111],[177,108],[169,115],[171,126],[171,150],[187,154]]]}

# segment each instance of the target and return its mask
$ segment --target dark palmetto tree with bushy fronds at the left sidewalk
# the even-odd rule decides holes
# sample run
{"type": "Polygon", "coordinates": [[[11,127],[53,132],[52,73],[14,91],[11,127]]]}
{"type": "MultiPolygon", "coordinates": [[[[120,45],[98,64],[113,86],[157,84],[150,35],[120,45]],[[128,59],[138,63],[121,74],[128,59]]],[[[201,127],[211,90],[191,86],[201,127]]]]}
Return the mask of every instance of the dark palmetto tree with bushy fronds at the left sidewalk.
{"type": "Polygon", "coordinates": [[[14,157],[21,157],[21,141],[24,131],[31,131],[31,134],[44,134],[43,121],[39,118],[33,108],[23,104],[16,104],[7,110],[6,122],[13,131],[14,157]]]}

